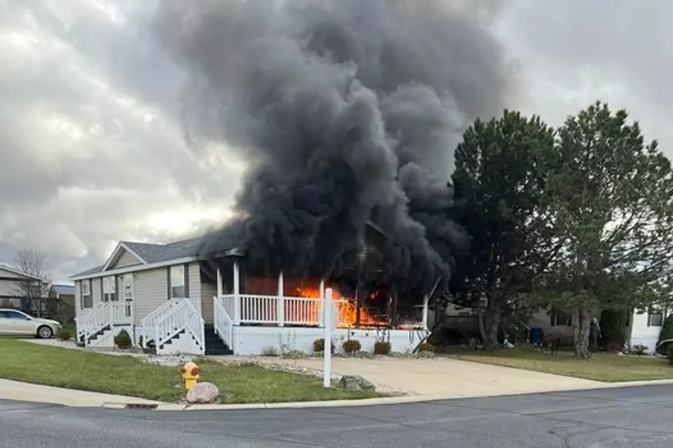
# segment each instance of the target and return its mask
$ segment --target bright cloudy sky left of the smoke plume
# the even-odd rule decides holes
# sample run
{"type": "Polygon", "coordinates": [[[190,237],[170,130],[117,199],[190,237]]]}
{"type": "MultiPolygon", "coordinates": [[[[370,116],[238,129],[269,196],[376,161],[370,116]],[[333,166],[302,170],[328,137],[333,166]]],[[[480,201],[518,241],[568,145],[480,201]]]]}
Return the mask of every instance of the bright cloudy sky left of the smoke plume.
{"type": "Polygon", "coordinates": [[[185,148],[181,74],[150,38],[153,10],[134,1],[0,3],[1,261],[36,246],[63,279],[118,239],[181,230],[143,222],[152,214],[226,206],[236,171],[185,148]]]}

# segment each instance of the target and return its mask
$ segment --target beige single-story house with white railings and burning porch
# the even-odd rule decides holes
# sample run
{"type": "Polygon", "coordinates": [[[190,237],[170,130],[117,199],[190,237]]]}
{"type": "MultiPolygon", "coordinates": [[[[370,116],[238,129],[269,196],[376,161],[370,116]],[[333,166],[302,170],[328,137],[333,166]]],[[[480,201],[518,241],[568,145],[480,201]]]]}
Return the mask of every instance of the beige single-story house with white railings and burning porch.
{"type": "MultiPolygon", "coordinates": [[[[216,259],[203,259],[202,243],[122,241],[102,266],[71,276],[78,340],[112,346],[123,329],[136,344],[164,354],[310,353],[324,331],[324,283],[316,280],[301,292],[282,273],[257,279],[243,273],[246,258],[235,244],[216,259]]],[[[394,351],[411,350],[426,336],[427,300],[422,308],[422,322],[404,329],[354,329],[353,316],[361,322],[371,316],[349,300],[334,300],[334,344],[358,339],[372,350],[385,339],[394,351]]]]}

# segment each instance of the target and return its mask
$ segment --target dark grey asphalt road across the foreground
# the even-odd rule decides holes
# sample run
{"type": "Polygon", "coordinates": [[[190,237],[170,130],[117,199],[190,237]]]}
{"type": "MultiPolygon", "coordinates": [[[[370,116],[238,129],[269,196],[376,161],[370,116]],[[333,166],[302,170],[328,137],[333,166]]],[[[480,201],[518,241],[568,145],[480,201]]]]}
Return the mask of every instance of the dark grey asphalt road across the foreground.
{"type": "Polygon", "coordinates": [[[157,412],[0,401],[0,447],[673,447],[673,385],[296,410],[157,412]]]}

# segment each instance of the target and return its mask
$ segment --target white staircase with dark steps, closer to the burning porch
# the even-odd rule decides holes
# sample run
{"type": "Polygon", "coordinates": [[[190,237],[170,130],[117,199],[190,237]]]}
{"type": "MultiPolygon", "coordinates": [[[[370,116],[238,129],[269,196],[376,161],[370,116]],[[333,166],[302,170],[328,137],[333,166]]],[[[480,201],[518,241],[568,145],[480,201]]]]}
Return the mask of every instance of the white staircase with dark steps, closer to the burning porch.
{"type": "Polygon", "coordinates": [[[141,321],[144,349],[153,346],[157,355],[205,354],[203,317],[192,299],[168,300],[141,321]]]}

